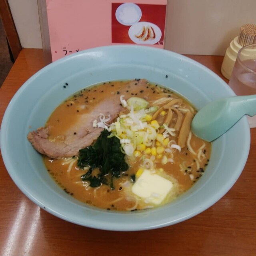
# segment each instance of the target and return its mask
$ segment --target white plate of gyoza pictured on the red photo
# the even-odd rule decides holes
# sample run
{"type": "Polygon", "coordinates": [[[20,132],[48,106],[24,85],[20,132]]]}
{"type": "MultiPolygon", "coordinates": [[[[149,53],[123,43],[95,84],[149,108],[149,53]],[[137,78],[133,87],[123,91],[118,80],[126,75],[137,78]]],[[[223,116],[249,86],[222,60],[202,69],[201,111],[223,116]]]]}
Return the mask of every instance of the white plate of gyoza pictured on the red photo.
{"type": "Polygon", "coordinates": [[[162,31],[154,23],[138,22],[130,27],[128,35],[135,44],[156,44],[161,39],[162,31]],[[147,36],[148,33],[150,36],[147,36]]]}

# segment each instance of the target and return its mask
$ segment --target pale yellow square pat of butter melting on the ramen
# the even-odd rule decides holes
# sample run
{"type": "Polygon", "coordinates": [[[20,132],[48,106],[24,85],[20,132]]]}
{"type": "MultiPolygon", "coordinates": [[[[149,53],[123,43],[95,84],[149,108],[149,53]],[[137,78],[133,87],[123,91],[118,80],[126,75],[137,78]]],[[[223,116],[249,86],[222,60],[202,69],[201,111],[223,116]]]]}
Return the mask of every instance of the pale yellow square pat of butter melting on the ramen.
{"type": "Polygon", "coordinates": [[[172,182],[158,174],[144,170],[132,186],[132,192],[145,202],[160,204],[172,189],[172,182]]]}

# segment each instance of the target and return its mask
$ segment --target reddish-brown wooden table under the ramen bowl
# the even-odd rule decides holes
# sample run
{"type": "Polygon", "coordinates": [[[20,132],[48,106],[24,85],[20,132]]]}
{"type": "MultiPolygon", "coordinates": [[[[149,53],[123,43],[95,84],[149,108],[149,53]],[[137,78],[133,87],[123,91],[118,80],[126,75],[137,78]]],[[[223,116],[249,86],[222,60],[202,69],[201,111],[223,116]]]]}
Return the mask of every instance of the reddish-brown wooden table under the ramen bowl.
{"type": "MultiPolygon", "coordinates": [[[[220,74],[223,57],[189,56],[220,74]]],[[[22,84],[44,66],[42,50],[23,49],[0,89],[0,118],[22,84]]],[[[223,78],[223,77],[222,77],[223,78]]],[[[32,203],[0,159],[0,255],[256,255],[256,129],[242,175],[216,204],[182,223],[141,232],[108,232],[61,220],[32,203]]]]}

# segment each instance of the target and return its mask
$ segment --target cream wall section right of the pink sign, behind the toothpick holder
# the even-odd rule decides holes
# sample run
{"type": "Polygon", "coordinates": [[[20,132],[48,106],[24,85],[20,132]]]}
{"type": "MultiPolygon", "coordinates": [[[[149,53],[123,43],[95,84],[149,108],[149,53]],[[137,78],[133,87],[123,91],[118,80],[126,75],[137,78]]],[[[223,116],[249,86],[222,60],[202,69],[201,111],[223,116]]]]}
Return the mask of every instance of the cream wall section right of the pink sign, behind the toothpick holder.
{"type": "Polygon", "coordinates": [[[169,0],[165,48],[181,54],[224,55],[256,0],[169,0]]]}

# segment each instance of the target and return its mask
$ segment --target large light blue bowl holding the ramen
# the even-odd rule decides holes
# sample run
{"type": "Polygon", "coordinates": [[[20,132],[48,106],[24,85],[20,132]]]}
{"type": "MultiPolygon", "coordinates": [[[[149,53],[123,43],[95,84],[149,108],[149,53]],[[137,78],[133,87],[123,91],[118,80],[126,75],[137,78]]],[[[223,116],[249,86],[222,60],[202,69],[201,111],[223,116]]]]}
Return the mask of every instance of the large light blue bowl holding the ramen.
{"type": "Polygon", "coordinates": [[[201,108],[234,92],[198,62],[166,50],[107,46],[72,54],[32,76],[12,98],[1,126],[4,164],[20,190],[41,208],[69,222],[104,230],[147,230],[187,220],[217,202],[236,182],[250,148],[250,129],[242,118],[213,142],[206,172],[174,202],[151,210],[113,212],[83,204],[52,180],[42,157],[28,142],[52,111],[78,90],[110,80],[146,78],[185,96],[201,108]],[[167,77],[168,76],[168,77],[167,77]],[[69,85],[63,88],[65,83],[69,85]]]}

